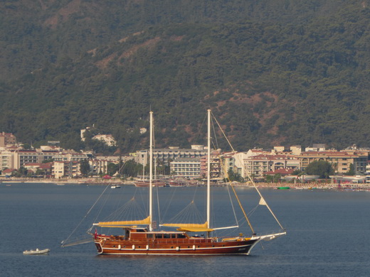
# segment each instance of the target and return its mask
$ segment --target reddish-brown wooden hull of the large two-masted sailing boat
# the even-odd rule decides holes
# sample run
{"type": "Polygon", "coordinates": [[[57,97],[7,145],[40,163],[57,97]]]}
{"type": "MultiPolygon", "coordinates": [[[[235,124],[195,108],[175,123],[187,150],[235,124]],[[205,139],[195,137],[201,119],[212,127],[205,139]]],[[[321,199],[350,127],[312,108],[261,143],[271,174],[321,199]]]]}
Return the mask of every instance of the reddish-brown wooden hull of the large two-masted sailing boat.
{"type": "Polygon", "coordinates": [[[131,241],[95,239],[102,255],[248,255],[259,239],[213,241],[213,239],[169,239],[166,241],[131,241]]]}

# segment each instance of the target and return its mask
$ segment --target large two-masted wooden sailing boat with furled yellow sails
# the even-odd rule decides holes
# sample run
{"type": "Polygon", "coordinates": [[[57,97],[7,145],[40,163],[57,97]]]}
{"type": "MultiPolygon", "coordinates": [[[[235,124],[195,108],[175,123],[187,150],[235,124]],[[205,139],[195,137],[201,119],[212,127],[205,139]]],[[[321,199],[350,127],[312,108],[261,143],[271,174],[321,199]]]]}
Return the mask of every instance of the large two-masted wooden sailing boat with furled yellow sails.
{"type": "MultiPolygon", "coordinates": [[[[153,113],[150,112],[150,147],[149,147],[149,215],[147,218],[130,221],[97,222],[93,227],[116,227],[123,229],[118,235],[90,233],[93,236],[98,254],[109,255],[227,255],[250,254],[253,246],[261,240],[271,240],[285,233],[254,234],[245,237],[239,234],[236,237],[218,238],[211,236],[216,230],[210,226],[210,176],[211,176],[211,111],[208,110],[208,161],[207,161],[207,219],[204,224],[162,224],[164,227],[176,227],[176,231],[154,230],[152,216],[152,146],[153,146],[153,113]],[[194,232],[204,232],[205,237],[193,235],[194,232]]],[[[256,188],[257,189],[257,188],[256,188]]],[[[259,191],[258,191],[259,193],[259,191]]],[[[260,204],[266,205],[262,195],[260,204]]],[[[267,206],[268,207],[268,206],[267,206]]],[[[269,208],[270,210],[270,208],[269,208]]],[[[244,213],[245,214],[245,213],[244,213]]],[[[246,216],[246,214],[245,214],[246,216]]],[[[275,216],[274,216],[275,217],[275,216]]],[[[276,218],[275,218],[276,219],[276,218]]],[[[279,223],[280,224],[280,223],[279,223]]],[[[281,225],[280,225],[281,227],[281,225]]],[[[226,227],[229,228],[229,227],[226,227]]],[[[226,229],[224,228],[224,229],[226,229]]],[[[221,229],[221,228],[220,228],[221,229]]],[[[282,228],[283,229],[283,228],[282,228]]]]}

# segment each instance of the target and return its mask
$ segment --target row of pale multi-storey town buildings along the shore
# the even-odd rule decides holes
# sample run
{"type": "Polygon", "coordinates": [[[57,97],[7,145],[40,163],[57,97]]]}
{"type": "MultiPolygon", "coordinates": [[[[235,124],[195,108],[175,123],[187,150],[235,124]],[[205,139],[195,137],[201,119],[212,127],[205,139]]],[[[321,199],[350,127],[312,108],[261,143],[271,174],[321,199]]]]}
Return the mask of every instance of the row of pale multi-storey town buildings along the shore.
{"type": "MultiPolygon", "coordinates": [[[[112,139],[108,137],[112,143],[112,139]]],[[[105,141],[104,136],[100,140],[105,141]]],[[[149,150],[125,156],[103,156],[93,151],[73,151],[49,141],[40,148],[25,149],[13,134],[0,133],[0,182],[22,183],[121,183],[133,184],[147,173],[149,150]]],[[[211,180],[238,186],[297,189],[369,190],[370,148],[343,150],[275,146],[242,152],[211,151],[211,180]],[[315,165],[315,166],[313,166],[315,165]],[[324,166],[329,169],[323,171],[324,166]],[[316,168],[316,171],[314,171],[316,168]]],[[[206,146],[154,148],[156,178],[178,180],[177,185],[202,185],[206,178],[206,146]]]]}

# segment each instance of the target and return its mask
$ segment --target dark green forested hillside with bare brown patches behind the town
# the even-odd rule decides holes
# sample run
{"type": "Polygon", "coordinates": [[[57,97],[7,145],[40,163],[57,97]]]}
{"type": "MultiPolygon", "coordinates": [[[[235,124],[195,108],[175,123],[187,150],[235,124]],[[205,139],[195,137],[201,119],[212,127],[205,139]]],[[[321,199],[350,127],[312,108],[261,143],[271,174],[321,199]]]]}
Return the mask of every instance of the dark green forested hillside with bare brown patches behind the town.
{"type": "Polygon", "coordinates": [[[122,152],[203,143],[211,108],[237,150],[370,146],[368,1],[2,1],[0,131],[122,152]],[[88,140],[89,141],[89,140],[88,140]]]}

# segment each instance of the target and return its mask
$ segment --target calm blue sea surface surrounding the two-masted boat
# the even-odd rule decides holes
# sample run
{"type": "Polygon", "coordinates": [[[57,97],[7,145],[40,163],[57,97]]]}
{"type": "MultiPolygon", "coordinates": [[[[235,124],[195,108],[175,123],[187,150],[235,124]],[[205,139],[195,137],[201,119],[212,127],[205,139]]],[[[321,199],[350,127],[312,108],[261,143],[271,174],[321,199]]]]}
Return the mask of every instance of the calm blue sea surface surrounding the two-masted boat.
{"type": "MultiPolygon", "coordinates": [[[[88,213],[104,189],[0,183],[0,276],[370,276],[370,192],[262,190],[287,236],[258,244],[250,256],[117,257],[98,256],[93,244],[61,248],[60,242],[74,229],[73,236],[84,234],[97,213],[105,215],[99,205],[88,213]],[[51,252],[22,254],[36,248],[51,252]]],[[[107,192],[110,200],[100,199],[107,210],[120,207],[121,198],[147,199],[145,189],[133,186],[107,192]]],[[[171,218],[176,205],[186,205],[189,197],[197,200],[203,192],[204,188],[159,188],[155,197],[165,202],[161,218],[171,218]],[[174,207],[165,206],[170,200],[174,207]]],[[[221,212],[217,220],[228,222],[234,217],[226,216],[224,192],[226,188],[216,188],[213,208],[221,212]]],[[[239,188],[238,194],[247,210],[253,210],[255,192],[239,188]]],[[[262,220],[264,208],[250,214],[256,231],[263,231],[260,225],[277,231],[277,225],[262,220]]],[[[244,232],[248,234],[246,227],[244,232]]]]}

